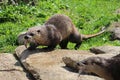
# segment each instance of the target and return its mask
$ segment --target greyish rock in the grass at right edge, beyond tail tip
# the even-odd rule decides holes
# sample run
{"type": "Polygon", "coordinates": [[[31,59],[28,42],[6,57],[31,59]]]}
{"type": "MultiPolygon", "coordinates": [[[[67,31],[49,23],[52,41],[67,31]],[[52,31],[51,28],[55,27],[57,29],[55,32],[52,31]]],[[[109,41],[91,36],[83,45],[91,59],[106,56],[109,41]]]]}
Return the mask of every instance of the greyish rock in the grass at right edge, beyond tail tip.
{"type": "Polygon", "coordinates": [[[108,31],[111,33],[110,40],[120,40],[120,22],[112,23],[108,31]]]}

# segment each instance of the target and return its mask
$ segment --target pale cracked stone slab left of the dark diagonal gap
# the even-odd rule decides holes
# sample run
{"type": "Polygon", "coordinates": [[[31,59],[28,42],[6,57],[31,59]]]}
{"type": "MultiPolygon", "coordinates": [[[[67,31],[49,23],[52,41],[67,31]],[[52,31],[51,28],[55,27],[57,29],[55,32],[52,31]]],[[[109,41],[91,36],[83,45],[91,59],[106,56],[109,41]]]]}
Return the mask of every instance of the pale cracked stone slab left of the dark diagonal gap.
{"type": "Polygon", "coordinates": [[[0,54],[0,80],[29,80],[12,54],[0,54]]]}

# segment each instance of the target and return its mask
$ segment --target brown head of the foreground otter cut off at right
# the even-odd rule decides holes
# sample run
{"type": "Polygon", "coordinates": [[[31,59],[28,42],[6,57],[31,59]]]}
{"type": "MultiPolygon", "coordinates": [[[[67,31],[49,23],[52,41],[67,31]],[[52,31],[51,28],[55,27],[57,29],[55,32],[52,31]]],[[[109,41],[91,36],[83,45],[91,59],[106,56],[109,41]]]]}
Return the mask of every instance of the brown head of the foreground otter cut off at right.
{"type": "Polygon", "coordinates": [[[107,60],[101,57],[90,57],[77,63],[79,70],[85,73],[100,75],[107,65],[107,60]]]}

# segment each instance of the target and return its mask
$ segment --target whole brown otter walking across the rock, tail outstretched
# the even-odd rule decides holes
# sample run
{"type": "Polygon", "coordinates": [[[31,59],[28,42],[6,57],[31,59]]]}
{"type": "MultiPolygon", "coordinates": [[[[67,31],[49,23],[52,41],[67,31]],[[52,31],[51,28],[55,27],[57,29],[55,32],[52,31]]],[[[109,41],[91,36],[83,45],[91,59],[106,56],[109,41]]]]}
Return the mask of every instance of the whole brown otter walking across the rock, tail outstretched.
{"type": "Polygon", "coordinates": [[[72,20],[63,14],[55,14],[41,26],[34,26],[28,29],[24,36],[24,43],[30,43],[28,49],[35,49],[37,46],[48,46],[54,49],[58,44],[62,49],[67,49],[68,42],[76,43],[78,49],[83,40],[102,34],[102,30],[92,35],[79,33],[72,20]]]}

